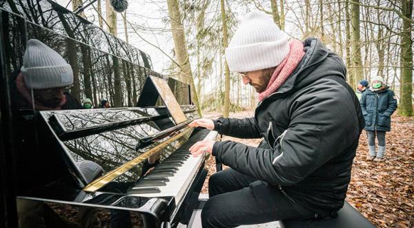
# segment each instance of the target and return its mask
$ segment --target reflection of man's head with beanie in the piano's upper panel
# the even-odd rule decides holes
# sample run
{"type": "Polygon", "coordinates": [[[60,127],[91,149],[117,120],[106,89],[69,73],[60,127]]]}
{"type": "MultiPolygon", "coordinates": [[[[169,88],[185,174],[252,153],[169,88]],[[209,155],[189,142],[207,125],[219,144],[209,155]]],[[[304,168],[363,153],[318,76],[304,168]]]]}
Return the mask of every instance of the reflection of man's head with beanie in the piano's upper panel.
{"type": "Polygon", "coordinates": [[[12,99],[19,109],[81,108],[79,102],[66,93],[73,84],[72,67],[59,53],[37,39],[28,41],[21,73],[15,82],[18,95],[12,99]]]}

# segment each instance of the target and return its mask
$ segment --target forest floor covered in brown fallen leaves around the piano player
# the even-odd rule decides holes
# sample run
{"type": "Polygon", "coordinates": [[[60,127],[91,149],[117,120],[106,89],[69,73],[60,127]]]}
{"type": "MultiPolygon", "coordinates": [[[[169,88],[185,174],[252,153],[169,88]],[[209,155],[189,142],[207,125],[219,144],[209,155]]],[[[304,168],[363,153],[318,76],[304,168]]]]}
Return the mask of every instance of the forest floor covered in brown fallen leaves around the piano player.
{"type": "MultiPolygon", "coordinates": [[[[217,117],[220,113],[204,113],[217,117]]],[[[253,111],[230,113],[230,117],[253,116],[253,111]]],[[[257,146],[260,140],[242,140],[257,146]]],[[[359,139],[357,156],[353,161],[352,178],[346,200],[377,227],[414,227],[414,117],[393,115],[391,132],[386,134],[386,160],[366,160],[368,144],[365,131],[359,139]]],[[[208,178],[215,173],[215,159],[206,162],[208,178]]],[[[226,167],[224,167],[226,169],[226,167]]],[[[202,193],[208,193],[208,178],[202,193]]]]}

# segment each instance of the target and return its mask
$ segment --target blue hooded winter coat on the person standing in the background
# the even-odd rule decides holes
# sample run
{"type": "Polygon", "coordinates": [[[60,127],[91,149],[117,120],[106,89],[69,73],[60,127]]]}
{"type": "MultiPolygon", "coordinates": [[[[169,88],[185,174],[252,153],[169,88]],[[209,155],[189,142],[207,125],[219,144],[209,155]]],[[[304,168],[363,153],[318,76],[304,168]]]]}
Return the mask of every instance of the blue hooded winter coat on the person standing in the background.
{"type": "Polygon", "coordinates": [[[391,115],[397,110],[397,99],[388,86],[380,91],[366,90],[359,102],[365,119],[365,130],[391,131],[391,115]]]}

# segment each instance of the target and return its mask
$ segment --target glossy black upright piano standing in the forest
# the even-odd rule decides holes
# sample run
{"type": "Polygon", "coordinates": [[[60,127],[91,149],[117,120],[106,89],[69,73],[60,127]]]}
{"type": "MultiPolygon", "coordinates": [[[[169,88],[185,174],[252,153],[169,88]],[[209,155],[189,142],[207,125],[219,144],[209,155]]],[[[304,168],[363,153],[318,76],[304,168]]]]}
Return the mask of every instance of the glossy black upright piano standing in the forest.
{"type": "Polygon", "coordinates": [[[190,87],[155,73],[146,53],[54,1],[0,1],[0,20],[0,180],[7,199],[0,201],[7,210],[0,222],[17,225],[16,202],[23,202],[43,205],[46,227],[186,224],[207,175],[206,158],[188,149],[217,137],[187,126],[199,117],[190,87]],[[112,108],[11,111],[11,75],[32,38],[70,63],[79,80],[72,95],[95,106],[106,98],[112,108]],[[16,115],[28,124],[33,151],[18,149],[16,115]],[[82,162],[92,162],[86,168],[96,175],[82,162]]]}

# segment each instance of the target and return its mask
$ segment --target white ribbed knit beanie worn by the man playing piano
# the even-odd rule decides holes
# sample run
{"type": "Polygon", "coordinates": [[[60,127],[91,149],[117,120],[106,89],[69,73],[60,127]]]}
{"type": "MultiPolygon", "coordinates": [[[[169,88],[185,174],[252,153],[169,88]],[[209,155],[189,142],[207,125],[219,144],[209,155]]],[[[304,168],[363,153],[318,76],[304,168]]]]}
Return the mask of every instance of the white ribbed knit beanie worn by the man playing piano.
{"type": "Polygon", "coordinates": [[[228,68],[249,72],[279,65],[289,53],[288,35],[264,12],[250,12],[226,48],[228,68]]]}

